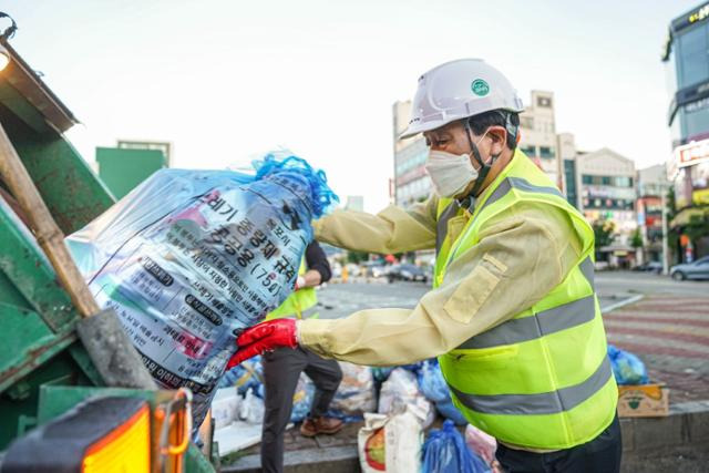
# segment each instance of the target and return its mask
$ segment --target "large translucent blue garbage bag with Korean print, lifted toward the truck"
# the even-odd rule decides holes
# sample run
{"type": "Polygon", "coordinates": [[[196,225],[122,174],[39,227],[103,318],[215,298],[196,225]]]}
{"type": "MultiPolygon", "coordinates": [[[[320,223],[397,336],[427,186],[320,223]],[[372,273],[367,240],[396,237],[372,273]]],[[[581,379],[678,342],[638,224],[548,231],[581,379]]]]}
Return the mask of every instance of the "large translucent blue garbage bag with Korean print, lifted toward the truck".
{"type": "Polygon", "coordinates": [[[301,158],[254,167],[161,169],[66,238],[157,383],[193,391],[196,426],[237,336],[288,297],[310,222],[337,199],[301,158]]]}

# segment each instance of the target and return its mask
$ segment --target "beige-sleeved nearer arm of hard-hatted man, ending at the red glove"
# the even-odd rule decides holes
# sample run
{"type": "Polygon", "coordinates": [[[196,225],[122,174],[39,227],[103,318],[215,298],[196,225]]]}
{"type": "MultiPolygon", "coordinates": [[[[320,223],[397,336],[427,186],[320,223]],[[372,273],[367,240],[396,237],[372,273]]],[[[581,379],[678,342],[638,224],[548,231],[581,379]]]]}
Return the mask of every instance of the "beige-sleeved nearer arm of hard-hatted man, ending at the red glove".
{"type": "Polygon", "coordinates": [[[299,343],[359,364],[405,364],[445,353],[527,309],[563,280],[580,247],[561,212],[552,219],[534,208],[504,214],[413,310],[369,309],[343,319],[304,320],[299,343]]]}

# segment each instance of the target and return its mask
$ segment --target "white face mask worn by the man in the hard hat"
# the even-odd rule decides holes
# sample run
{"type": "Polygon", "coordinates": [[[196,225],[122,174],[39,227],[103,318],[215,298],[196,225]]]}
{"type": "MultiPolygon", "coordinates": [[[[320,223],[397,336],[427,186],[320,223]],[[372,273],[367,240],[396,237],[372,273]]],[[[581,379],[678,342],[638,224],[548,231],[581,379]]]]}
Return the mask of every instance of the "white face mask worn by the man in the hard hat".
{"type": "MultiPolygon", "coordinates": [[[[485,134],[475,143],[475,146],[483,141],[485,134]]],[[[477,178],[477,171],[473,167],[470,154],[455,155],[444,151],[429,151],[424,167],[431,176],[433,191],[439,197],[455,197],[477,178]]]]}

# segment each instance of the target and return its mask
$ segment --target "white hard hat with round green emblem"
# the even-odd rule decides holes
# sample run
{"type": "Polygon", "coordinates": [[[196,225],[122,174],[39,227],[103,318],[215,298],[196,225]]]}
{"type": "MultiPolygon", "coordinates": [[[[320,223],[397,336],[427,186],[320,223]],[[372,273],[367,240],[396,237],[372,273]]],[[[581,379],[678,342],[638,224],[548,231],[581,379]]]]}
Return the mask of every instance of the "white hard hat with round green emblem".
{"type": "Polygon", "coordinates": [[[492,110],[524,110],[507,78],[482,59],[446,62],[419,78],[411,121],[399,137],[408,138],[492,110]]]}

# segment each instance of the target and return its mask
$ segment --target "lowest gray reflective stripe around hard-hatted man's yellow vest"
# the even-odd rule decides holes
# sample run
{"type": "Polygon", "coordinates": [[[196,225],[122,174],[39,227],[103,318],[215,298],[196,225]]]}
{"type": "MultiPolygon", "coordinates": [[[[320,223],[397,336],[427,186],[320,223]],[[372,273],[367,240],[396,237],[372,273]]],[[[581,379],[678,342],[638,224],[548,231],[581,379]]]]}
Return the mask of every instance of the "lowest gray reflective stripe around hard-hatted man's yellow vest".
{"type": "MultiPolygon", "coordinates": [[[[472,374],[474,376],[474,374],[472,374]]],[[[484,414],[556,414],[574,409],[600,389],[613,376],[608,357],[586,381],[568,388],[538,394],[466,394],[449,384],[459,401],[484,414]]]]}

